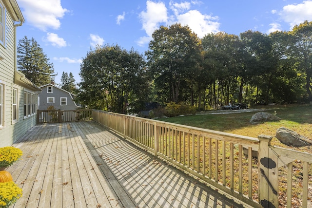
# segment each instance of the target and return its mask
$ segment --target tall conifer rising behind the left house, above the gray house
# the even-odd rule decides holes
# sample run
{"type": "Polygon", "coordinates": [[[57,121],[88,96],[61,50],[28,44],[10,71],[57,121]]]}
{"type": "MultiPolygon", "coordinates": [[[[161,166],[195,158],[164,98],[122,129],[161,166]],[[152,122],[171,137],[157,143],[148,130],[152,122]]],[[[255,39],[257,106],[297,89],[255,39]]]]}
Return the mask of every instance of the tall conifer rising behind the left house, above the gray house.
{"type": "Polygon", "coordinates": [[[34,38],[28,39],[25,36],[20,39],[17,50],[18,69],[27,79],[38,86],[51,82],[53,64],[49,63],[49,58],[34,38]]]}

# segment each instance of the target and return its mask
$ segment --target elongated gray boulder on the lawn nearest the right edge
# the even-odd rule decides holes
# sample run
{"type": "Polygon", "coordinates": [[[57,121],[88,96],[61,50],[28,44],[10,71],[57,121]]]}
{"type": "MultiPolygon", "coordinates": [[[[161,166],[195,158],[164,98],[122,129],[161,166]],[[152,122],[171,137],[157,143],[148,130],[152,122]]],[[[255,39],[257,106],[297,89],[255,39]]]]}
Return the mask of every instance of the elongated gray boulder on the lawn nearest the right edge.
{"type": "Polygon", "coordinates": [[[294,147],[303,147],[312,145],[312,140],[304,137],[292,130],[281,127],[276,131],[276,138],[285,145],[291,145],[294,147]]]}

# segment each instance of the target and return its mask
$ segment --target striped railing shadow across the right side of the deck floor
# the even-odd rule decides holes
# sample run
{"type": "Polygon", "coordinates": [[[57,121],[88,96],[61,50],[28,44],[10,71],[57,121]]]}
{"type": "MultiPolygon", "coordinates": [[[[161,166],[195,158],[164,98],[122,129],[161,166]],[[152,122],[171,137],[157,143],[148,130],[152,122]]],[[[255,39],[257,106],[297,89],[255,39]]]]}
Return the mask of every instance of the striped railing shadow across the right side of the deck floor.
{"type": "Polygon", "coordinates": [[[99,124],[88,124],[84,141],[139,207],[244,207],[99,124]]]}

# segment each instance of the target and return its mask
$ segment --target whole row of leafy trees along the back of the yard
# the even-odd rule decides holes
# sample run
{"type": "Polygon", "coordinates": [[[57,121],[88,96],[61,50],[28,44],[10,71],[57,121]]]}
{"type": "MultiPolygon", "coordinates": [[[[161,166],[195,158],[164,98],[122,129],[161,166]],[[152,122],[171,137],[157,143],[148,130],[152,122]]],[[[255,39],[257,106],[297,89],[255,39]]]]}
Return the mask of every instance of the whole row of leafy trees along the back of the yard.
{"type": "Polygon", "coordinates": [[[312,22],[269,35],[219,32],[198,38],[188,26],[161,26],[145,57],[98,46],[80,66],[81,101],[127,113],[143,101],[185,102],[199,109],[238,102],[312,101],[312,22]]]}

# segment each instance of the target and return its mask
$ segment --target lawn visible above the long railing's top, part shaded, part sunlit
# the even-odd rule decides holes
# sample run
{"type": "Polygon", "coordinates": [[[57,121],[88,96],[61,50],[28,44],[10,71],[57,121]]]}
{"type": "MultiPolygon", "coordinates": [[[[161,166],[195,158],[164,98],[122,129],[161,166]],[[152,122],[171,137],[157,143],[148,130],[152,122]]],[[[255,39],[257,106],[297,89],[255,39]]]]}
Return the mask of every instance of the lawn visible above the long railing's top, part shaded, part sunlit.
{"type": "MultiPolygon", "coordinates": [[[[171,118],[159,118],[157,120],[172,122],[187,126],[194,126],[221,132],[235,133],[244,136],[257,137],[260,134],[275,136],[276,130],[285,127],[303,136],[312,139],[312,106],[311,105],[276,105],[257,107],[264,112],[280,117],[280,121],[250,123],[251,117],[256,112],[249,113],[229,113],[229,114],[197,114],[177,116],[171,118]]],[[[222,110],[207,111],[205,113],[222,113],[222,110]]],[[[273,145],[286,147],[275,137],[273,145]]],[[[298,150],[312,153],[312,148],[303,147],[298,150]]]]}

